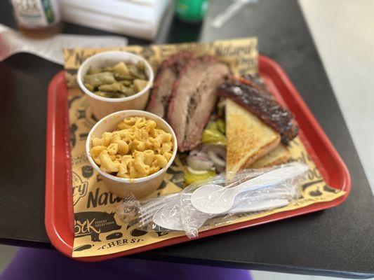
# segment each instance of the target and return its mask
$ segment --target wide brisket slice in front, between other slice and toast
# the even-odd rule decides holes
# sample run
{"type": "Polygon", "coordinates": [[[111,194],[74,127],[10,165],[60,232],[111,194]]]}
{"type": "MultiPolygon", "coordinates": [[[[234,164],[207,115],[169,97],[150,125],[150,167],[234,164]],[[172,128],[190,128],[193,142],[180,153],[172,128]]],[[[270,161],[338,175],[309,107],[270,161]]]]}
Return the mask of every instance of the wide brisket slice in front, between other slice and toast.
{"type": "Polygon", "coordinates": [[[203,127],[215,108],[215,91],[228,73],[225,64],[210,56],[191,60],[180,71],[167,116],[177,136],[179,151],[190,151],[199,145],[203,127]]]}

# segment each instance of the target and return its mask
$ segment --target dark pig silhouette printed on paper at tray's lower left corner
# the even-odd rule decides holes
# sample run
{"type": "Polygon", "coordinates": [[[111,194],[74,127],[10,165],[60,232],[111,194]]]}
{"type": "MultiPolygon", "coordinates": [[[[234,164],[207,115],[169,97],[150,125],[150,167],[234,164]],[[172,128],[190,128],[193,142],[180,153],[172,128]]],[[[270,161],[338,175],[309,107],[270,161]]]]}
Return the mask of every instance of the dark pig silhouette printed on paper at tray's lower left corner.
{"type": "Polygon", "coordinates": [[[99,235],[102,232],[112,232],[121,229],[114,219],[114,212],[79,212],[74,214],[75,237],[91,236],[91,241],[101,241],[99,235]]]}

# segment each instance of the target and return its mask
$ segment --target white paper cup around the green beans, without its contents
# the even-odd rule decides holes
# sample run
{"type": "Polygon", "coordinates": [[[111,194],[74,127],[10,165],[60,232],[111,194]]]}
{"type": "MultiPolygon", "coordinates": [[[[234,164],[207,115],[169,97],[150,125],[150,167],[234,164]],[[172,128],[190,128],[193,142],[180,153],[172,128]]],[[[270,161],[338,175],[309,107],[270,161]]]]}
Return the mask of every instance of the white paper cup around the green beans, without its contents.
{"type": "Polygon", "coordinates": [[[88,59],[86,59],[84,63],[81,64],[76,75],[76,80],[79,87],[88,96],[88,102],[90,103],[91,111],[99,120],[100,118],[107,116],[109,113],[114,113],[116,111],[129,109],[144,110],[149,97],[149,89],[153,85],[153,79],[154,72],[147,60],[140,57],[139,55],[134,55],[131,52],[122,51],[100,52],[96,55],[93,55],[92,57],[88,57],[88,59]],[[142,91],[137,92],[129,97],[100,97],[84,86],[83,77],[84,75],[86,75],[86,72],[90,67],[96,68],[104,66],[114,66],[118,62],[138,63],[140,61],[145,64],[145,73],[148,77],[148,84],[142,91]]]}

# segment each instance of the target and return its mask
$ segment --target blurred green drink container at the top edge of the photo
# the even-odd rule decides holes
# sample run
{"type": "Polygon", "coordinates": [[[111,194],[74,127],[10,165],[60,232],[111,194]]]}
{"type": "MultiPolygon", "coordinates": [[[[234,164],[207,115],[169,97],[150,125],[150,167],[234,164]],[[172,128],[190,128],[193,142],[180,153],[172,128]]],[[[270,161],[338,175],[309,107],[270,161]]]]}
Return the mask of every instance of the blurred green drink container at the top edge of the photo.
{"type": "Polygon", "coordinates": [[[175,15],[185,22],[201,22],[208,6],[209,0],[176,0],[175,15]]]}

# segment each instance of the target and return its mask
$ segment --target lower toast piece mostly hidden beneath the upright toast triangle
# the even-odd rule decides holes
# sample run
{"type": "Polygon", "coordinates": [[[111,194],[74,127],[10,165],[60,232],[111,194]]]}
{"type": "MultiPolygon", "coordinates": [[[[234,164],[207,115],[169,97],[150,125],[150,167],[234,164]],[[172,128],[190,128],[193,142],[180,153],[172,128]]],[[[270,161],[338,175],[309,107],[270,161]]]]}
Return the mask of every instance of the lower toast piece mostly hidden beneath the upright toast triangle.
{"type": "Polygon", "coordinates": [[[274,150],[269,151],[262,158],[256,160],[252,165],[246,168],[265,168],[272,167],[274,165],[281,165],[288,162],[290,159],[290,152],[283,144],[279,144],[274,150]]]}

